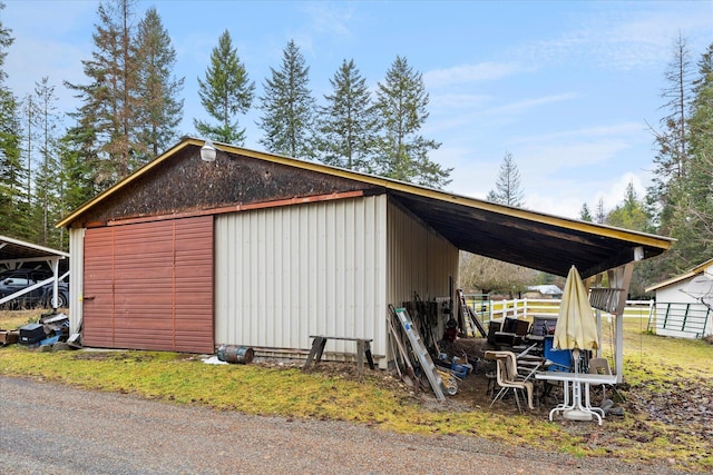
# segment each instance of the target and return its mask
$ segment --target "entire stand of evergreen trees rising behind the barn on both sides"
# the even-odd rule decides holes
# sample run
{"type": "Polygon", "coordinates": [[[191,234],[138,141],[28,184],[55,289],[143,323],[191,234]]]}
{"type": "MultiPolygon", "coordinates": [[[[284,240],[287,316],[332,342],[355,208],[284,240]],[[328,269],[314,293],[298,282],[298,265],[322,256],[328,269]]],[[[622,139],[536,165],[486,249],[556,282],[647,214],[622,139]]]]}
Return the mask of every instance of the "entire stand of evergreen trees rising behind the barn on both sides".
{"type": "MultiPolygon", "coordinates": [[[[14,38],[0,3],[0,235],[67,250],[67,234],[55,228],[62,216],[184,135],[242,146],[251,111],[260,112],[261,137],[250,140],[266,151],[438,189],[450,182],[453,170],[431,159],[441,144],[422,133],[429,118],[423,78],[404,56],[394,55],[381,80],[364,78],[354,60],[343,59],[332,78],[320,78],[329,79],[330,92],[315,97],[294,40],[267,77],[252,78],[236,46],[240,30],[225,30],[191,78],[209,121],[185,121],[185,78],[174,73],[172,36],[155,8],[139,14],[138,6],[100,3],[82,80],[37,78],[32,93],[18,97],[7,86],[14,38]],[[59,87],[78,99],[75,110],[59,110],[59,87]],[[195,131],[179,130],[184,122],[195,131]]],[[[584,220],[678,239],[670,253],[636,267],[639,287],[713,258],[713,43],[700,57],[684,37],[673,43],[662,71],[662,118],[649,125],[651,187],[645,196],[629,187],[614,209],[599,201],[580,212],[584,220]]],[[[490,198],[525,206],[511,155],[504,167],[490,198]]]]}

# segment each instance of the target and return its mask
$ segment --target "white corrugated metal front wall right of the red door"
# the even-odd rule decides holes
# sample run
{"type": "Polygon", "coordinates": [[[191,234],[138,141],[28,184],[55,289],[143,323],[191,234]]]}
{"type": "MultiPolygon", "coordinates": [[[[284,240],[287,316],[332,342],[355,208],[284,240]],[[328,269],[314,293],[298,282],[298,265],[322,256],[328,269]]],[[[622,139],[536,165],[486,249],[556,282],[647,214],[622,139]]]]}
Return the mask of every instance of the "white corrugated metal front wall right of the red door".
{"type": "Polygon", "coordinates": [[[384,355],[384,226],[383,196],[216,217],[216,343],[384,355]]]}

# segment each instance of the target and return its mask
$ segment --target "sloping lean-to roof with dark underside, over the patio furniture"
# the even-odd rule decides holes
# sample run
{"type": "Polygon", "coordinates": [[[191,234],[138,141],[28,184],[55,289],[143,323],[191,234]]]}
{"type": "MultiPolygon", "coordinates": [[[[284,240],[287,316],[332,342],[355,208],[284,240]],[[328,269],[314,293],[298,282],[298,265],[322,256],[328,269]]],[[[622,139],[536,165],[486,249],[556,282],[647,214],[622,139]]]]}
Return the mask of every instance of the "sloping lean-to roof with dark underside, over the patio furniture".
{"type": "Polygon", "coordinates": [[[461,250],[583,278],[668,249],[674,239],[559,218],[440,191],[392,190],[391,195],[461,250]]]}

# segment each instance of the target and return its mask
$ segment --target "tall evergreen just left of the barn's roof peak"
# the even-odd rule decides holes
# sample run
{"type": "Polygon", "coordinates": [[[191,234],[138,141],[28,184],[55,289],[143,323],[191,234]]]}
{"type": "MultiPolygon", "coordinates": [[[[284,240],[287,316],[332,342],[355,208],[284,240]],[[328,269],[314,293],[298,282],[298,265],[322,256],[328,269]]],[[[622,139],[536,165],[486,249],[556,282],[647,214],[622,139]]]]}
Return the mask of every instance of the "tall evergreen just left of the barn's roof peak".
{"type": "Polygon", "coordinates": [[[138,99],[143,105],[138,139],[148,151],[146,157],[137,159],[138,165],[143,165],[166,150],[178,137],[184,103],[178,95],[185,79],[172,76],[176,50],[155,8],[149,8],[139,22],[136,42],[141,59],[138,99]]]}

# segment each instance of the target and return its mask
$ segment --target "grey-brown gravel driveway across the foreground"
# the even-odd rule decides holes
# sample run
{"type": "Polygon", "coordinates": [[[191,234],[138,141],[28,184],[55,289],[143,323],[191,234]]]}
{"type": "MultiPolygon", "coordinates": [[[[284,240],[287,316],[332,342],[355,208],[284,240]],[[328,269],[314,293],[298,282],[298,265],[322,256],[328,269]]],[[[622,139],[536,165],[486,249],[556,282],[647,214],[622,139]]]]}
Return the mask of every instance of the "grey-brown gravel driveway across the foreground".
{"type": "MultiPolygon", "coordinates": [[[[240,397],[240,394],[236,394],[240,397]]],[[[604,474],[666,467],[246,416],[0,377],[3,474],[604,474]]]]}

